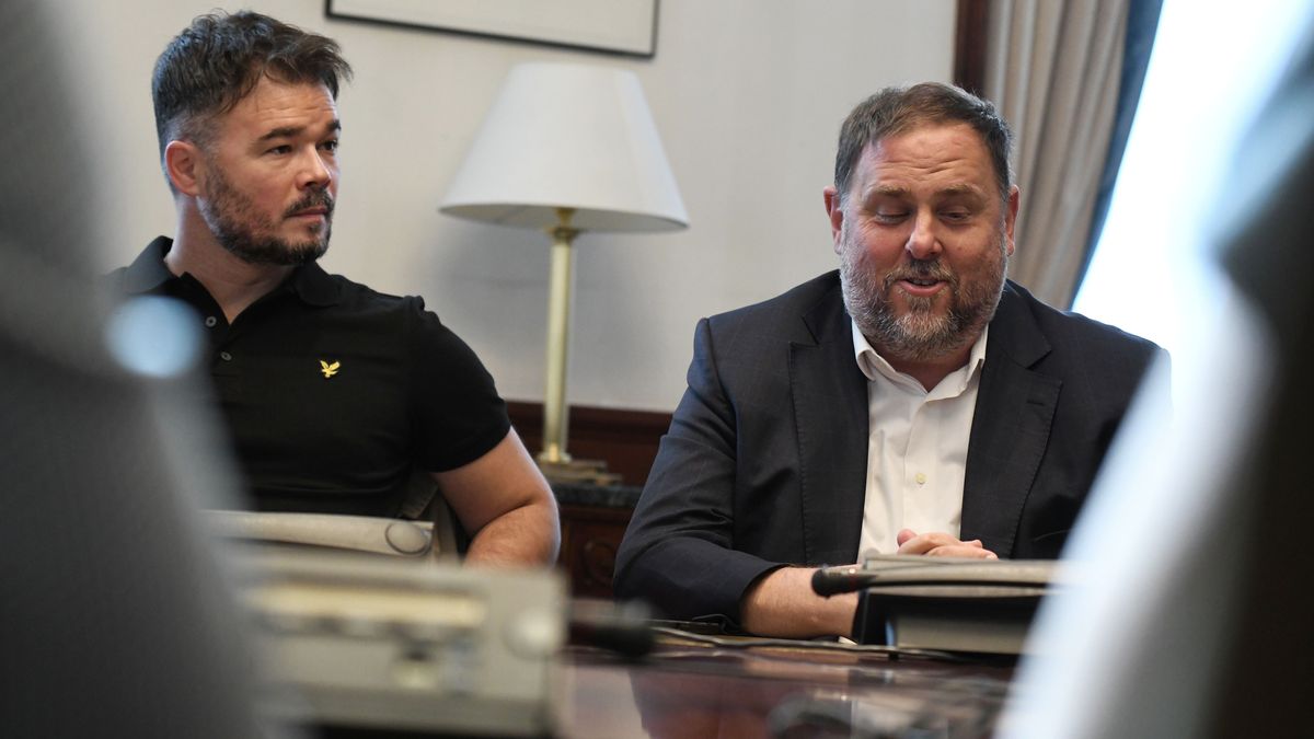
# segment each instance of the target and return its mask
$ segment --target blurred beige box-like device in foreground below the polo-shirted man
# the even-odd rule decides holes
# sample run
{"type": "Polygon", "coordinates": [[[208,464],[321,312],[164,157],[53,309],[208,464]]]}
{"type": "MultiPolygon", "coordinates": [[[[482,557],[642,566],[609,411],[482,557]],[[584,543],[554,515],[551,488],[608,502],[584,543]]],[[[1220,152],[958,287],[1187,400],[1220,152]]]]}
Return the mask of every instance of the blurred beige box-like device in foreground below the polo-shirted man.
{"type": "Polygon", "coordinates": [[[334,728],[543,736],[565,642],[548,569],[233,544],[275,685],[269,713],[334,728]]]}

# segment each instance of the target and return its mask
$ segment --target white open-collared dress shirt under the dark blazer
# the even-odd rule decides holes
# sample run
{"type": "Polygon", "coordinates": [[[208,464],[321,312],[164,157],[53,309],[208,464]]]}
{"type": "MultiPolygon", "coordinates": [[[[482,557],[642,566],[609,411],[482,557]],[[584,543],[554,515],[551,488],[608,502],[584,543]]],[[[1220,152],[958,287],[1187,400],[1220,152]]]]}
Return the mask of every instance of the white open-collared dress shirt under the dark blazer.
{"type": "Polygon", "coordinates": [[[867,376],[867,492],[859,558],[894,554],[901,529],[959,535],[967,441],[976,410],[986,337],[982,331],[967,364],[929,392],[896,371],[853,323],[853,351],[867,376]]]}

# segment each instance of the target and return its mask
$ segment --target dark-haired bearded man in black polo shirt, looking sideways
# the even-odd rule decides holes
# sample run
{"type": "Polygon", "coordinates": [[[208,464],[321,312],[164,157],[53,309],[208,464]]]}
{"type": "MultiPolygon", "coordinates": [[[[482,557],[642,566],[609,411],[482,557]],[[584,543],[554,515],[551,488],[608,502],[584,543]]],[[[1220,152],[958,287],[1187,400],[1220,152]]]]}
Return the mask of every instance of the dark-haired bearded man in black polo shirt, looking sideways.
{"type": "Polygon", "coordinates": [[[188,302],[255,505],[396,515],[432,476],[466,559],[545,563],[547,481],[474,352],[418,297],[326,274],[338,192],[336,42],[242,12],[196,18],[155,66],[177,233],[113,275],[188,302]]]}

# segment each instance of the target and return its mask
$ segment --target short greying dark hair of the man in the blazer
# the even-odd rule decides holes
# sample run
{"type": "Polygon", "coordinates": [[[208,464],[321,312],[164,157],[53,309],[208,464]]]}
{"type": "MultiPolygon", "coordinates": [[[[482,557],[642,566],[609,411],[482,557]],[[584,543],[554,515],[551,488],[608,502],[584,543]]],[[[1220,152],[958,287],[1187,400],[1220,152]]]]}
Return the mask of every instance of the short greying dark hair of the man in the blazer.
{"type": "Polygon", "coordinates": [[[844,120],[834,155],[834,187],[840,203],[848,197],[853,168],[869,143],[938,124],[967,124],[980,134],[995,166],[1000,196],[1007,199],[1013,187],[1009,166],[1013,131],[1008,124],[991,101],[961,87],[926,82],[912,87],[887,87],[858,104],[844,120]]]}

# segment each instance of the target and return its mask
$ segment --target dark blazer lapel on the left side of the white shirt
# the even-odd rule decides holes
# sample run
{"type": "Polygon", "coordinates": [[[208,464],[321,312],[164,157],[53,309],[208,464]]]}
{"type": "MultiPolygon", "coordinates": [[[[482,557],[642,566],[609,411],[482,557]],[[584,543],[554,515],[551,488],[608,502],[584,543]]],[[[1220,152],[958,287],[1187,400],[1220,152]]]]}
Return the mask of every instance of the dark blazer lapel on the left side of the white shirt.
{"type": "Polygon", "coordinates": [[[790,388],[804,564],[848,564],[858,555],[866,502],[867,379],[853,358],[838,284],[803,321],[813,341],[790,343],[790,388]]]}

